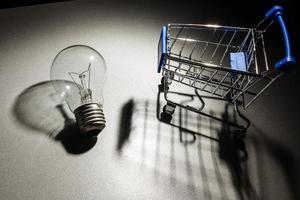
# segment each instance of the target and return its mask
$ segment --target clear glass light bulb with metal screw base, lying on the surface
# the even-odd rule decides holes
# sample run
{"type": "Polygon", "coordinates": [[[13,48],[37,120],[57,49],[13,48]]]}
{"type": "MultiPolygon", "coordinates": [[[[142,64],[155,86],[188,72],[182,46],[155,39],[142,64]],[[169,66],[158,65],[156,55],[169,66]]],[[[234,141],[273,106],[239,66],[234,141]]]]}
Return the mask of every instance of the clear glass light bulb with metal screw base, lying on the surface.
{"type": "Polygon", "coordinates": [[[98,135],[105,127],[103,86],[106,64],[95,49],[85,45],[60,51],[51,65],[51,82],[75,114],[80,131],[98,135]]]}

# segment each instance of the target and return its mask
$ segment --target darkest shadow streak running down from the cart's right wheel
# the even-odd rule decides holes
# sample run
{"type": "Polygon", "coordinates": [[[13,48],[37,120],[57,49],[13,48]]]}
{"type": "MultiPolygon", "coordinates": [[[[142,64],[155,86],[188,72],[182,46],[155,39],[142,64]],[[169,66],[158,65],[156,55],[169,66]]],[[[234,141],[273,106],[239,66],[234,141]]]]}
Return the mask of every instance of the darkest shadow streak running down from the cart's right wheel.
{"type": "MultiPolygon", "coordinates": [[[[230,104],[225,105],[225,112],[222,114],[224,120],[229,120],[230,104]]],[[[236,115],[233,116],[236,120],[236,115]]],[[[241,200],[259,199],[250,180],[247,170],[248,153],[245,141],[235,137],[232,127],[222,123],[221,130],[217,134],[219,137],[219,158],[223,160],[229,168],[231,179],[235,190],[241,200]]]]}

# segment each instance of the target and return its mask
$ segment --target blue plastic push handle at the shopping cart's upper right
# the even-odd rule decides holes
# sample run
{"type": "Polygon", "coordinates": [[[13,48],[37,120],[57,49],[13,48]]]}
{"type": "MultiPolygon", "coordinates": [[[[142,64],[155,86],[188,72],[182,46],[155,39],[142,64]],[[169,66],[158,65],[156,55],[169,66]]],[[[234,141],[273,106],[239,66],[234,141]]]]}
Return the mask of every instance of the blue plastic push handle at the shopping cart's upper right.
{"type": "Polygon", "coordinates": [[[283,35],[284,46],[285,46],[285,57],[275,64],[275,68],[277,70],[284,70],[296,63],[296,59],[294,58],[294,56],[292,56],[289,34],[285,26],[285,23],[283,21],[282,12],[283,12],[283,8],[281,6],[274,6],[265,14],[267,18],[277,19],[283,35]]]}

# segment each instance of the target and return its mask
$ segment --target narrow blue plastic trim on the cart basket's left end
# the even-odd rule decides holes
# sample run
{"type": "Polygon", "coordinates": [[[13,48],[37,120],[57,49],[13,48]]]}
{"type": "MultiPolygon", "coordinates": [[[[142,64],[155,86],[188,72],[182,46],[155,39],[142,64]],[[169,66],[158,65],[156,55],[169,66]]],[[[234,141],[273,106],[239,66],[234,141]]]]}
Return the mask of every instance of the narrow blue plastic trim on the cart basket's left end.
{"type": "Polygon", "coordinates": [[[166,55],[168,53],[167,49],[167,27],[163,26],[160,33],[160,39],[158,44],[158,69],[157,72],[160,73],[163,65],[166,64],[166,55]]]}

